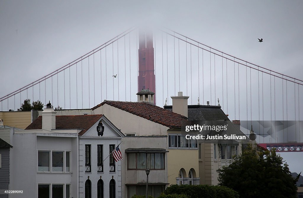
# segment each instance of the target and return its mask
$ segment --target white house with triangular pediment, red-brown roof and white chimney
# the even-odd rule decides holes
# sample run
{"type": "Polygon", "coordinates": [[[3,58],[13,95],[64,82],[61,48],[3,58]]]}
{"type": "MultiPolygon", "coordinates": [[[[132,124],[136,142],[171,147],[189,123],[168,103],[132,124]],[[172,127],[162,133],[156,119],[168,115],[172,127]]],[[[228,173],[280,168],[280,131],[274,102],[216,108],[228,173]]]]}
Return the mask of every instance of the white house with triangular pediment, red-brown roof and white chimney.
{"type": "Polygon", "coordinates": [[[104,115],[55,114],[9,133],[9,189],[23,190],[10,197],[121,197],[121,161],[106,157],[124,135],[104,115]]]}

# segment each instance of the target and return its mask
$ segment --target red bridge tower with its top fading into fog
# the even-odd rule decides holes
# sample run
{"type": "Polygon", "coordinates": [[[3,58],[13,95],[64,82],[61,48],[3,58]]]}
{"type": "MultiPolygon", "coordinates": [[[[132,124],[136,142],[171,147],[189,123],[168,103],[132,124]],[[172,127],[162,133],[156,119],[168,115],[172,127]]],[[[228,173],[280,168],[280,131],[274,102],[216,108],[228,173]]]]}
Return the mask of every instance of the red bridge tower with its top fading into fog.
{"type": "MultiPolygon", "coordinates": [[[[139,31],[139,70],[138,70],[138,92],[149,89],[156,93],[154,47],[152,31],[139,31]]],[[[154,104],[156,97],[154,96],[154,104]]]]}

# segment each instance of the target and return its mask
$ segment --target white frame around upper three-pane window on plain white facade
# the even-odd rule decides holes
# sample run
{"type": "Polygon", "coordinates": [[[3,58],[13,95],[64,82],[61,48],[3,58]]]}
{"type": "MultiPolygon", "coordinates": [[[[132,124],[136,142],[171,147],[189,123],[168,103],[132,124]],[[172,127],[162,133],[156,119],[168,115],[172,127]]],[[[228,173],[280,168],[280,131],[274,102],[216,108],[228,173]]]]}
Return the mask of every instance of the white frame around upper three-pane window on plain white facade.
{"type": "Polygon", "coordinates": [[[37,173],[71,173],[71,150],[45,150],[37,149],[37,173]],[[49,152],[49,171],[38,171],[38,152],[39,151],[48,151],[49,152]],[[63,171],[52,171],[52,152],[60,151],[63,152],[63,171]],[[66,171],[66,152],[69,152],[69,171],[66,171]]]}

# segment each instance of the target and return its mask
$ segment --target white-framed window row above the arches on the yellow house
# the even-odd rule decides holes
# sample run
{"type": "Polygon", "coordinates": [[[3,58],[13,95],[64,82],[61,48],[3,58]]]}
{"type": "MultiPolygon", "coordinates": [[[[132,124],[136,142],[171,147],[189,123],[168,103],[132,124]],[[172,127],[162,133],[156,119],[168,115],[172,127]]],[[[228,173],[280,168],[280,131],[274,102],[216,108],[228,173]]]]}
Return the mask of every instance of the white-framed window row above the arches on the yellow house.
{"type": "Polygon", "coordinates": [[[168,148],[197,149],[198,140],[188,140],[182,134],[168,134],[168,148]]]}

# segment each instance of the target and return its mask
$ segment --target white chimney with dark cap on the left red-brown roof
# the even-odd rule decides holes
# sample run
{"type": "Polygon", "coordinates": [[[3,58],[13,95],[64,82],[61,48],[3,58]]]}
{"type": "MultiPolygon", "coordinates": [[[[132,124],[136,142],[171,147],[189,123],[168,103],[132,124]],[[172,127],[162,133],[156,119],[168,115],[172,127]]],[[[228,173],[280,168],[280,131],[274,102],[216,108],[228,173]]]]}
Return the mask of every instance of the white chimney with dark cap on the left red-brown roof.
{"type": "Polygon", "coordinates": [[[42,129],[52,130],[56,129],[56,113],[52,108],[52,104],[48,101],[46,108],[41,112],[42,114],[42,129]]]}

